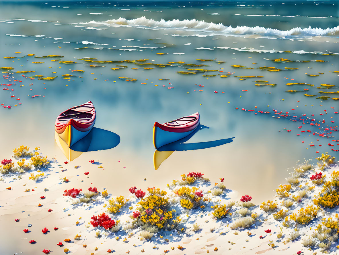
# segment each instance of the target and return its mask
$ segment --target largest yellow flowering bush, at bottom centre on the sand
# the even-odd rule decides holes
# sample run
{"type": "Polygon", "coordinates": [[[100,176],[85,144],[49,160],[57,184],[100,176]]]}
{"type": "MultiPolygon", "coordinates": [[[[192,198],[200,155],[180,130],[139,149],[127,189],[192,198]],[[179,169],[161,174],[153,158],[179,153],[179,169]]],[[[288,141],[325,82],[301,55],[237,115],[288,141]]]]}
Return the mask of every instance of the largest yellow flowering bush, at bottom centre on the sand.
{"type": "MultiPolygon", "coordinates": [[[[163,228],[174,217],[175,210],[169,209],[167,192],[159,188],[147,188],[148,195],[139,201],[140,220],[143,224],[150,224],[163,228]]],[[[180,218],[179,218],[180,219],[180,218]]]]}

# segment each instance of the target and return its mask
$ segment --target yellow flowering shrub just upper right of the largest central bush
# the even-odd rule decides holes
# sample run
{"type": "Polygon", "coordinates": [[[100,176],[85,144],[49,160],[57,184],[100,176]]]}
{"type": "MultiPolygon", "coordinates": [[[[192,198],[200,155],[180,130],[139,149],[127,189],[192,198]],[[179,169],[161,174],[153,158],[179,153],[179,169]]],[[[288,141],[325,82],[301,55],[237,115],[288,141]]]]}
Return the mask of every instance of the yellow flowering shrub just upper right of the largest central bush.
{"type": "Polygon", "coordinates": [[[179,197],[182,199],[180,200],[180,204],[183,208],[192,209],[200,205],[200,201],[203,197],[202,191],[198,192],[197,187],[186,187],[182,186],[178,190],[175,190],[179,197]]]}

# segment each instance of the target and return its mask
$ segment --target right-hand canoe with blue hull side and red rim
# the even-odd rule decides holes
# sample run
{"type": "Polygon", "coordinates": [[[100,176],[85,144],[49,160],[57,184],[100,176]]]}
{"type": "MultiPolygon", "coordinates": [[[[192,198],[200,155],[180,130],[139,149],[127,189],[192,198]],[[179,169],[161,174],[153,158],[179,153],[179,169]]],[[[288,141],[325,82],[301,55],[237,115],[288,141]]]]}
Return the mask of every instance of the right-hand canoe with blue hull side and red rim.
{"type": "Polygon", "coordinates": [[[198,112],[163,124],[155,122],[153,126],[154,147],[158,149],[188,136],[199,126],[199,123],[198,112]]]}

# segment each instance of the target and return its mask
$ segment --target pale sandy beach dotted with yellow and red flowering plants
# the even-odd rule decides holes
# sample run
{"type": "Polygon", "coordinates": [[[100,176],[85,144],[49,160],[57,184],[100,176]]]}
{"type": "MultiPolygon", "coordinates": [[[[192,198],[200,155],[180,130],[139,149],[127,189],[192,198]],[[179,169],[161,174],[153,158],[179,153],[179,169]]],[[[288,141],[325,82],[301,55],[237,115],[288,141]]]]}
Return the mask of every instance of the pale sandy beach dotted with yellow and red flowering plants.
{"type": "MultiPolygon", "coordinates": [[[[33,153],[33,157],[44,157],[39,150],[33,153]]],[[[33,162],[29,157],[25,156],[26,163],[33,162]]],[[[0,183],[0,223],[6,229],[2,249],[4,254],[43,250],[56,254],[335,254],[338,237],[332,229],[338,223],[331,228],[323,219],[332,217],[337,222],[338,216],[335,209],[322,202],[316,205],[314,199],[326,182],[335,179],[339,168],[334,158],[320,157],[319,165],[301,162],[295,166],[277,195],[258,205],[251,202],[251,194],[243,194],[243,202],[236,200],[238,193],[227,189],[230,180],[224,177],[209,180],[208,174],[191,172],[167,180],[167,186],[142,191],[121,185],[121,194],[111,194],[108,187],[99,186],[100,172],[107,170],[94,159],[74,166],[51,158],[40,170],[32,167],[16,173],[22,169],[17,164],[22,159],[12,158],[16,170],[3,174],[0,183]],[[34,181],[29,179],[32,174],[40,177],[34,181]],[[88,192],[90,187],[94,192],[88,192]],[[67,192],[72,188],[79,190],[67,192]],[[147,204],[148,212],[141,206],[147,201],[155,203],[153,210],[147,204]],[[164,203],[171,217],[162,212],[162,218],[143,223],[142,215],[153,215],[157,206],[165,208],[164,203]],[[106,220],[114,220],[114,226],[94,227],[91,222],[96,220],[91,217],[102,213],[106,220]],[[330,231],[319,230],[319,224],[330,231]],[[8,242],[16,245],[5,245],[8,242]]]]}

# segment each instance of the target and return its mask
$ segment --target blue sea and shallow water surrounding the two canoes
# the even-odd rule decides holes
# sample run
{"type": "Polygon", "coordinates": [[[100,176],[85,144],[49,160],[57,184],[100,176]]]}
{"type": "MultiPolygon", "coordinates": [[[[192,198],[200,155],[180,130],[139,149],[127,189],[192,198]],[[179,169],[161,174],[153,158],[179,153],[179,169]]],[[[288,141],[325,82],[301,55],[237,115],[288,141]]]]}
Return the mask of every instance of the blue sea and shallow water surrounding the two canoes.
{"type": "Polygon", "coordinates": [[[54,121],[65,109],[91,100],[97,110],[95,126],[116,133],[120,143],[113,149],[84,152],[71,164],[99,160],[105,170],[109,170],[108,176],[100,180],[102,187],[112,186],[112,190],[116,185],[119,192],[118,188],[132,185],[165,185],[167,179],[178,179],[182,173],[197,171],[205,173],[212,182],[224,177],[227,188],[237,190],[239,195],[250,194],[255,202],[269,199],[277,185],[288,176],[286,169],[293,167],[295,162],[316,157],[316,151],[338,153],[331,151],[339,149],[337,142],[332,142],[332,139],[338,139],[335,131],[327,134],[334,136],[330,138],[312,135],[321,133],[327,124],[334,126],[338,122],[338,115],[334,114],[338,111],[338,101],[332,99],[338,94],[319,94],[319,91],[338,91],[338,73],[329,72],[338,71],[337,16],[337,2],[125,2],[123,6],[107,2],[1,3],[0,53],[2,57],[16,58],[1,58],[0,67],[15,67],[14,72],[35,71],[33,74],[14,73],[14,79],[22,82],[1,86],[9,88],[0,93],[1,103],[12,106],[0,111],[3,156],[11,155],[11,149],[24,144],[40,146],[44,154],[66,161],[55,142],[54,121]],[[179,21],[167,22],[173,19],[179,21]],[[95,49],[79,49],[82,47],[95,49]],[[329,53],[331,55],[323,55],[329,53]],[[27,54],[64,57],[36,58],[27,54]],[[137,64],[182,61],[208,66],[189,67],[172,63],[172,66],[157,67],[78,60],[83,57],[97,58],[97,61],[147,59],[146,62],[135,62],[137,64]],[[271,61],[277,58],[310,62],[271,61]],[[77,63],[61,64],[51,61],[54,59],[77,63]],[[225,63],[218,64],[217,61],[225,63]],[[117,65],[128,67],[111,69],[119,68],[117,65]],[[257,69],[263,66],[282,71],[257,69]],[[185,67],[218,71],[176,73],[190,71],[185,67]],[[284,67],[299,69],[285,70],[284,67]],[[84,72],[71,72],[74,69],[84,72]],[[219,77],[227,72],[234,74],[228,78],[219,77]],[[305,73],[319,76],[310,77],[305,73]],[[30,80],[22,74],[58,77],[46,81],[30,80]],[[80,78],[63,79],[62,74],[80,78]],[[203,77],[205,74],[217,76],[203,77]],[[247,75],[263,77],[246,80],[234,77],[247,75]],[[125,81],[119,77],[137,81],[125,81]],[[170,80],[159,80],[163,78],[170,80]],[[277,85],[255,86],[257,80],[277,85]],[[314,86],[286,86],[286,83],[314,86]],[[328,90],[317,89],[320,84],[336,86],[328,90]],[[321,100],[303,96],[304,89],[309,89],[307,94],[330,98],[321,100]],[[15,97],[11,98],[13,95],[15,97]],[[34,95],[41,97],[32,98],[34,95]],[[17,101],[17,98],[21,100],[17,101]],[[14,106],[18,102],[22,104],[14,106]],[[255,112],[241,111],[242,108],[254,109],[255,112]],[[306,114],[305,117],[315,118],[319,123],[324,119],[325,123],[319,131],[318,126],[309,123],[292,122],[283,117],[277,119],[273,109],[298,117],[306,114]],[[324,110],[328,114],[320,116],[320,113],[325,114],[324,110]],[[186,143],[235,137],[233,141],[213,148],[175,151],[158,170],[154,170],[154,122],[166,122],[197,111],[201,116],[200,123],[206,128],[199,130],[186,143]],[[299,126],[302,128],[298,129],[299,126]],[[306,130],[311,133],[300,133],[306,130]],[[308,146],[311,142],[316,146],[308,146]],[[334,146],[328,147],[327,143],[334,146]],[[142,181],[144,178],[147,181],[142,181]]]}

